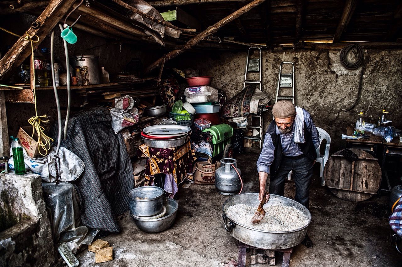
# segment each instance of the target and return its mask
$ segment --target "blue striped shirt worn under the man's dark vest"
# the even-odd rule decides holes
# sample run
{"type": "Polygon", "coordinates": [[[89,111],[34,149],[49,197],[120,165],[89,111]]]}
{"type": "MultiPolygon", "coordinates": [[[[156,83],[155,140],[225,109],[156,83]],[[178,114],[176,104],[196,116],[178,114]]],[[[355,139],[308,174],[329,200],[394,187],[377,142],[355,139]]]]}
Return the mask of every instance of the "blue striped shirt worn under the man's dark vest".
{"type": "MultiPolygon", "coordinates": [[[[314,125],[313,119],[311,118],[310,113],[307,110],[303,109],[304,121],[307,125],[307,130],[311,134],[311,138],[315,148],[320,146],[320,136],[318,135],[318,130],[314,125]]],[[[297,157],[303,154],[300,150],[300,147],[297,143],[295,143],[295,139],[293,136],[295,123],[292,124],[292,130],[289,133],[281,133],[277,127],[276,134],[281,138],[282,144],[282,152],[283,155],[288,157],[297,157]]],[[[272,143],[272,138],[269,133],[265,135],[263,150],[261,151],[260,157],[257,161],[257,170],[258,172],[263,171],[269,173],[269,167],[274,161],[274,150],[275,146],[272,143]]]]}

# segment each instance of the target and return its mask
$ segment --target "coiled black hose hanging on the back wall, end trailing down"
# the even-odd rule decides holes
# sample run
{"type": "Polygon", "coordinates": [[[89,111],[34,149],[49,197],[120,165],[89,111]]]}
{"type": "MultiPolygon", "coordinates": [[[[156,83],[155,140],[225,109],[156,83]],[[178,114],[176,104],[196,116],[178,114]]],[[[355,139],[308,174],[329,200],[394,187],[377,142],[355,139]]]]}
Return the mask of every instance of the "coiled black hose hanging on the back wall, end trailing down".
{"type": "Polygon", "coordinates": [[[361,96],[361,88],[363,86],[363,72],[364,72],[364,52],[363,49],[360,47],[358,44],[350,44],[345,46],[342,51],[340,51],[340,63],[342,64],[343,67],[346,69],[350,70],[355,70],[361,66],[361,72],[360,72],[360,79],[359,79],[359,89],[357,90],[357,98],[355,101],[355,104],[351,106],[350,108],[344,110],[345,112],[348,112],[355,108],[357,103],[360,101],[360,96],[361,96]],[[353,54],[356,57],[356,61],[349,61],[347,55],[349,52],[352,51],[353,54]]]}

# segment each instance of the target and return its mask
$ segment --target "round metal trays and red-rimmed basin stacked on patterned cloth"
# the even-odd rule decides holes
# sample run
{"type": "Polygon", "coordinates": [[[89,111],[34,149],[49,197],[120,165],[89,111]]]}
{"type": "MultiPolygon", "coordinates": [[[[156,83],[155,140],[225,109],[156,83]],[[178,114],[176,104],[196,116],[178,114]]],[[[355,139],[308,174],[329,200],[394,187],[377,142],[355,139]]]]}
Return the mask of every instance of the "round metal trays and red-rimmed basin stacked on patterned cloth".
{"type": "Polygon", "coordinates": [[[180,147],[186,142],[190,127],[181,125],[154,125],[144,128],[141,133],[148,147],[180,147]]]}

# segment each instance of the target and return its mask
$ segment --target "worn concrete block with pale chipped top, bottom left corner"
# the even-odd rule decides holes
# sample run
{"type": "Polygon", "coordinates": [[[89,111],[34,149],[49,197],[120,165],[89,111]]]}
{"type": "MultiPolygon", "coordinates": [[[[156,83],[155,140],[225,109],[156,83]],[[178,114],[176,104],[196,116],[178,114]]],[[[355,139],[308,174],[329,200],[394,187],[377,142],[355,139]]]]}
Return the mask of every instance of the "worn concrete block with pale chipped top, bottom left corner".
{"type": "Polygon", "coordinates": [[[0,192],[0,266],[52,266],[55,248],[41,177],[0,174],[0,192]]]}

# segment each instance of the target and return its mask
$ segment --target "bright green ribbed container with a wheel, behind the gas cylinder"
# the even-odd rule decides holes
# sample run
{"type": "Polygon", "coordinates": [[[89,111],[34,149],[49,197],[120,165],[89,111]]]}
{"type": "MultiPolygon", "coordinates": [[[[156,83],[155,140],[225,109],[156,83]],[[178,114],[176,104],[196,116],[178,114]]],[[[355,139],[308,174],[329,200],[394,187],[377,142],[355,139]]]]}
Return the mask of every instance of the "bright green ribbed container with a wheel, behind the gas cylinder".
{"type": "Polygon", "coordinates": [[[222,123],[211,126],[203,132],[210,132],[212,135],[212,157],[219,155],[224,151],[227,144],[230,143],[233,136],[233,128],[229,124],[222,123]]]}

